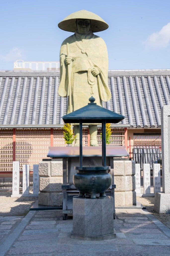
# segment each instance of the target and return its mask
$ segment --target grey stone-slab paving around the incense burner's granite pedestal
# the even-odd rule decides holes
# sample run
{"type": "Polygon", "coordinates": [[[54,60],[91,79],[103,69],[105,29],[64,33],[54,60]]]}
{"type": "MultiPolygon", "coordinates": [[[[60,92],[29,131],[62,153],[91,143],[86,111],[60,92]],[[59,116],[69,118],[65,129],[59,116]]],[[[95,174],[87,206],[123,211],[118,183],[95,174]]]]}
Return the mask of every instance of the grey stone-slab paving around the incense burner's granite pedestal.
{"type": "MultiPolygon", "coordinates": [[[[31,217],[28,214],[29,220],[20,231],[17,234],[13,231],[15,237],[5,254],[0,247],[0,256],[169,256],[169,229],[143,210],[120,209],[118,214],[116,212],[117,238],[104,241],[72,239],[72,219],[63,221],[61,210],[50,212],[52,214],[49,210],[34,211],[31,217]],[[47,215],[56,217],[51,219],[47,215]]],[[[25,218],[27,216],[23,220],[25,218]]]]}

